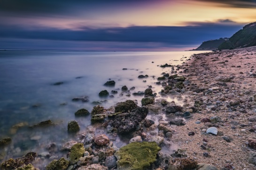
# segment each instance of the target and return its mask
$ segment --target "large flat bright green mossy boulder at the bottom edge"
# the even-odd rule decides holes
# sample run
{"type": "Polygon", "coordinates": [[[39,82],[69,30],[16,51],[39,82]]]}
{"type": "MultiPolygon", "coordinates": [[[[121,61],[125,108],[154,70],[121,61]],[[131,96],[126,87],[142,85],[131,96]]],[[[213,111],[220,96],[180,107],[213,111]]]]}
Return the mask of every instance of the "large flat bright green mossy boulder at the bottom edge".
{"type": "Polygon", "coordinates": [[[155,142],[132,142],[115,153],[118,169],[144,170],[156,161],[160,150],[155,142]]]}

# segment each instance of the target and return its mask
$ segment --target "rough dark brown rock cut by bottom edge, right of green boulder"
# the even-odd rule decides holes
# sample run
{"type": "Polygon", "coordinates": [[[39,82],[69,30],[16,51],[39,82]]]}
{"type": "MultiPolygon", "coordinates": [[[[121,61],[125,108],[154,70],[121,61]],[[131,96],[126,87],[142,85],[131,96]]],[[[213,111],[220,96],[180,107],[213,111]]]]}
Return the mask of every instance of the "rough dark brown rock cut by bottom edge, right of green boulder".
{"type": "Polygon", "coordinates": [[[176,159],[175,163],[170,163],[167,170],[191,170],[197,166],[194,159],[176,159]]]}

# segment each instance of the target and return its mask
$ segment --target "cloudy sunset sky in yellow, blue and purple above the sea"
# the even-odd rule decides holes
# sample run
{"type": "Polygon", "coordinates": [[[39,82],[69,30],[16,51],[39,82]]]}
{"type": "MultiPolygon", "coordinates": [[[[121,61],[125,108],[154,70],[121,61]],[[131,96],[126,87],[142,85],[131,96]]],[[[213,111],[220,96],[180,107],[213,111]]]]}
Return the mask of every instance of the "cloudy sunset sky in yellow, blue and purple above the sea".
{"type": "Polygon", "coordinates": [[[184,51],[255,14],[256,0],[0,0],[0,49],[184,51]]]}

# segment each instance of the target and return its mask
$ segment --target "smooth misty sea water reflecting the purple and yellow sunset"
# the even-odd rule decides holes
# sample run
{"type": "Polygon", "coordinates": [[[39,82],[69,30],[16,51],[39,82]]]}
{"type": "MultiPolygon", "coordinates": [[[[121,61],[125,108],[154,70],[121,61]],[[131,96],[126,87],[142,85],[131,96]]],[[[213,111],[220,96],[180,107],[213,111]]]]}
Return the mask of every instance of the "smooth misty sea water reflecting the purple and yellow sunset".
{"type": "Polygon", "coordinates": [[[105,108],[127,99],[137,99],[140,105],[142,96],[119,96],[122,86],[134,86],[133,93],[152,85],[158,93],[163,88],[154,83],[156,78],[163,72],[170,73],[171,68],[157,65],[182,64],[184,57],[194,53],[200,52],[0,51],[0,139],[13,140],[5,148],[5,159],[27,151],[45,152],[44,148],[53,142],[63,144],[73,139],[67,133],[68,121],[77,120],[83,131],[90,125],[90,117],[76,118],[74,113],[81,108],[92,111],[93,101],[107,100],[102,104],[105,108]],[[140,74],[149,77],[138,79],[140,74]],[[109,79],[116,81],[115,87],[103,86],[109,79]],[[64,83],[54,86],[58,81],[64,83]],[[118,94],[114,98],[100,98],[98,94],[104,89],[117,90],[118,94]],[[88,96],[89,102],[72,102],[72,98],[80,96],[88,96]],[[10,133],[10,128],[18,123],[34,125],[48,119],[59,125],[45,130],[22,128],[10,133]]]}

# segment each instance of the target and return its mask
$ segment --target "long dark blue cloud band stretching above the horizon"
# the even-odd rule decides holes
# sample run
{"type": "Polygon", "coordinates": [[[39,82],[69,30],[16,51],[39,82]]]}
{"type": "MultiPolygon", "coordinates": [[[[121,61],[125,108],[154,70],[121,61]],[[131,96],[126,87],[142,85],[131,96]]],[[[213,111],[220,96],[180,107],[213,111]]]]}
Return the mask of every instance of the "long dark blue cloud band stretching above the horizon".
{"type": "Polygon", "coordinates": [[[18,26],[2,26],[0,37],[44,39],[58,41],[99,42],[151,42],[169,45],[201,44],[209,39],[231,37],[243,25],[221,23],[196,23],[197,26],[131,26],[127,28],[58,30],[41,28],[31,30],[18,26]]]}

